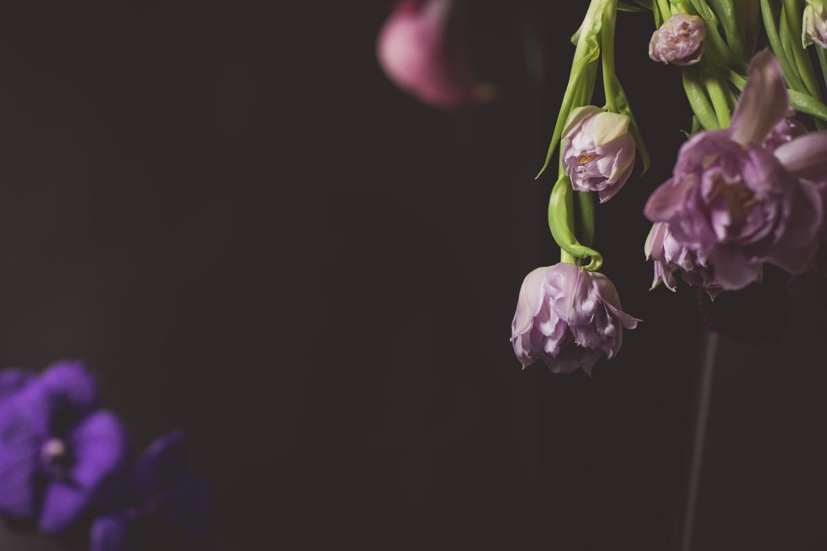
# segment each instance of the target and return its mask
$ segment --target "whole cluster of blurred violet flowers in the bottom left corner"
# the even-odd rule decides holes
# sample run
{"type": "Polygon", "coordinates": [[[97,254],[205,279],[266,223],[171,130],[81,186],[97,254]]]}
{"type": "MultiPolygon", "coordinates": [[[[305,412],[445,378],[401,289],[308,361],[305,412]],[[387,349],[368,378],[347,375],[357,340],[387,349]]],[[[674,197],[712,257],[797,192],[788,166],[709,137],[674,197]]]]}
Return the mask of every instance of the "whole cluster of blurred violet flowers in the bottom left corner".
{"type": "Polygon", "coordinates": [[[91,551],[184,550],[201,549],[208,503],[179,432],[133,460],[83,364],[0,372],[0,514],[54,536],[85,527],[91,551]]]}

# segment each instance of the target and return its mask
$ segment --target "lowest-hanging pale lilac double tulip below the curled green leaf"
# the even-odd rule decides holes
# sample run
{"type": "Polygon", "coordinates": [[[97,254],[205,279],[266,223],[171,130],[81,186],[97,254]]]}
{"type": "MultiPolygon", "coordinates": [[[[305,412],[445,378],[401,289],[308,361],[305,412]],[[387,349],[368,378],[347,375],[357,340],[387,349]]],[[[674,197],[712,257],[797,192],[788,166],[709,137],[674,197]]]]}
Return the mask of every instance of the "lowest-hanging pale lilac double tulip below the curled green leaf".
{"type": "Polygon", "coordinates": [[[576,264],[537,268],[520,287],[511,324],[511,343],[523,368],[542,359],[552,373],[586,373],[600,356],[611,359],[623,344],[623,330],[638,319],[620,310],[617,289],[602,273],[576,264]]]}

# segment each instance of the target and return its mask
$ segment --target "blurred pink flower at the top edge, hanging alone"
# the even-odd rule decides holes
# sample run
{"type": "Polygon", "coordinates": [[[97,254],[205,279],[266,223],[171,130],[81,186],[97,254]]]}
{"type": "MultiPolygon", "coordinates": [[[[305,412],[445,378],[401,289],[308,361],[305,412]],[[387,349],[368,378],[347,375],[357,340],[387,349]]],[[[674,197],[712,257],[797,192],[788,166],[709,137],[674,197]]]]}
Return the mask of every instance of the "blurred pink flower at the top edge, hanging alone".
{"type": "Polygon", "coordinates": [[[492,97],[449,47],[454,0],[401,0],[376,45],[382,69],[394,83],[435,107],[461,107],[492,97]]]}

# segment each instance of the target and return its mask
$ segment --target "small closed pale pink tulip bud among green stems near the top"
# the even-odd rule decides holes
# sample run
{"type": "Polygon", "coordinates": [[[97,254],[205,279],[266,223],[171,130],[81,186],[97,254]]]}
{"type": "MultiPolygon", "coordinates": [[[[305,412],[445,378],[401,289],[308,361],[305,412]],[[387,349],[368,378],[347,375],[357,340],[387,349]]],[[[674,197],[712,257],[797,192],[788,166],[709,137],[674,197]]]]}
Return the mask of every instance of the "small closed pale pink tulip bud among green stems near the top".
{"type": "Polygon", "coordinates": [[[703,19],[676,13],[653,33],[652,40],[649,40],[649,57],[664,64],[696,64],[704,54],[701,42],[705,36],[703,19]]]}

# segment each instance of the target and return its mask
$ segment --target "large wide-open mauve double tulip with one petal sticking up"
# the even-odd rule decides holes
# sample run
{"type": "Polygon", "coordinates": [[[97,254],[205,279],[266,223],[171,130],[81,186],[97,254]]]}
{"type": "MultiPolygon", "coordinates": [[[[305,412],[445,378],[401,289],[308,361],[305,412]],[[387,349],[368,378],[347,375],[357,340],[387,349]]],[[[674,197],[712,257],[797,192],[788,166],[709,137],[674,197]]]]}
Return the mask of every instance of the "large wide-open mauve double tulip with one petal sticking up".
{"type": "Polygon", "coordinates": [[[818,248],[823,209],[813,181],[827,169],[827,132],[763,147],[788,109],[782,69],[764,50],[753,58],[729,128],[692,136],[644,209],[701,264],[715,266],[724,290],[758,281],[765,262],[801,273],[818,248]]]}

